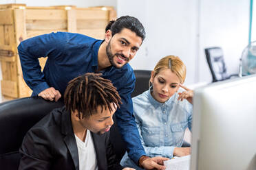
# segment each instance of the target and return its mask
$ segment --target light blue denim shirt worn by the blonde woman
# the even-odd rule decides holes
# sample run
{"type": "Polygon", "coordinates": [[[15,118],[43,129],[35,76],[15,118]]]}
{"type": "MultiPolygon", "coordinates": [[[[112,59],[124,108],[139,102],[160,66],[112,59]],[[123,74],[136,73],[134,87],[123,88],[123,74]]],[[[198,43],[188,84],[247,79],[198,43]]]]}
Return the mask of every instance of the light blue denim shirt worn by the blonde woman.
{"type": "MultiPolygon", "coordinates": [[[[178,90],[180,92],[182,89],[178,90]]],[[[186,99],[178,101],[178,93],[163,104],[153,99],[150,90],[132,99],[140,140],[147,156],[172,158],[174,148],[182,146],[186,127],[191,130],[193,106],[186,99]]],[[[121,165],[129,167],[130,163],[125,154],[121,165]]]]}

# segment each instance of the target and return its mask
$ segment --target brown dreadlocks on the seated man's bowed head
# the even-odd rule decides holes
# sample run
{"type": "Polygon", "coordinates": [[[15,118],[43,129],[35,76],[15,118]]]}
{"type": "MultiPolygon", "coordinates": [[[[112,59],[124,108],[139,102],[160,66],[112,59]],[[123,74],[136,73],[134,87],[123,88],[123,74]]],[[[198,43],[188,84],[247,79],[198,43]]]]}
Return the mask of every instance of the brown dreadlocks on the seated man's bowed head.
{"type": "Polygon", "coordinates": [[[120,108],[119,104],[122,104],[122,101],[116,87],[100,75],[102,74],[86,73],[68,83],[64,94],[66,110],[78,110],[79,118],[83,119],[96,114],[98,106],[101,106],[101,112],[103,108],[113,111],[113,103],[115,109],[120,108]]]}

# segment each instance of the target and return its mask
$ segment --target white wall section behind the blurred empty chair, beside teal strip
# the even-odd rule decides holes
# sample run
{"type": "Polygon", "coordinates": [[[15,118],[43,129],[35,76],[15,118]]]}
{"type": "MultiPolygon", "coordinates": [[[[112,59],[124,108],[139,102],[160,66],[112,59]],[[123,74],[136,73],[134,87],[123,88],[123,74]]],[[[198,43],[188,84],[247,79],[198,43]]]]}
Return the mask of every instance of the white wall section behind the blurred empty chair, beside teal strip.
{"type": "Polygon", "coordinates": [[[238,73],[239,58],[248,44],[249,0],[202,0],[200,3],[199,80],[211,81],[205,47],[222,47],[228,73],[238,73]]]}

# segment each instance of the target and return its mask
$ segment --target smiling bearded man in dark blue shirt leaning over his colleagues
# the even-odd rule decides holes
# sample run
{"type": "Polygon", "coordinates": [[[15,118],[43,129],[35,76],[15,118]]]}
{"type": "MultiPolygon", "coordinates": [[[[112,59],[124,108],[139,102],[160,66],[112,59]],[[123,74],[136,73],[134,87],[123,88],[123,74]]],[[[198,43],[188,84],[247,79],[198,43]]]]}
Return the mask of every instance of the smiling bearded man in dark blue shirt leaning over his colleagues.
{"type": "Polygon", "coordinates": [[[138,19],[122,16],[106,27],[105,40],[82,34],[57,32],[24,40],[18,47],[23,77],[33,90],[50,101],[63,95],[67,83],[84,73],[103,73],[116,86],[122,105],[116,111],[120,134],[129,157],[145,169],[164,169],[164,158],[149,158],[141,145],[133,117],[131,93],[135,76],[127,64],[145,39],[145,29],[138,19]],[[43,72],[38,58],[48,57],[43,72]]]}

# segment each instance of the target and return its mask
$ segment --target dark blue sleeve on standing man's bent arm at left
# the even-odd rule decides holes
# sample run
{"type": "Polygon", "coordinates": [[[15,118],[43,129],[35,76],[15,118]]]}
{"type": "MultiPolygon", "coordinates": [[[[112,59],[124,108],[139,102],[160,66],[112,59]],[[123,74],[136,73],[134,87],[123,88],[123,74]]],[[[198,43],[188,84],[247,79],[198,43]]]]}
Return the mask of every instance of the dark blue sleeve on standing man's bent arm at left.
{"type": "Polygon", "coordinates": [[[38,59],[48,57],[53,60],[61,56],[65,41],[65,33],[57,32],[35,36],[20,43],[18,51],[23,78],[34,94],[38,95],[42,90],[49,88],[38,59]]]}

